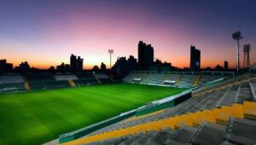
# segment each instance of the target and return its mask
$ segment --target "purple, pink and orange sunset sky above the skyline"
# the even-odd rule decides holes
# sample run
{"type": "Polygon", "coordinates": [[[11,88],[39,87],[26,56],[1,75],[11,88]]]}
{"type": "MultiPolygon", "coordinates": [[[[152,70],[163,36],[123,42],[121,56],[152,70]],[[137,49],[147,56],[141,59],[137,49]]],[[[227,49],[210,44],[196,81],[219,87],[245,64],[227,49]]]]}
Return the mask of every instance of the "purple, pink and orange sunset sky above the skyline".
{"type": "Polygon", "coordinates": [[[231,33],[238,30],[241,60],[242,45],[250,43],[256,61],[255,8],[254,0],[1,0],[0,59],[48,68],[74,54],[91,68],[109,65],[108,49],[113,61],[137,58],[143,40],[155,58],[176,67],[189,67],[190,44],[201,49],[201,67],[235,67],[231,33]]]}

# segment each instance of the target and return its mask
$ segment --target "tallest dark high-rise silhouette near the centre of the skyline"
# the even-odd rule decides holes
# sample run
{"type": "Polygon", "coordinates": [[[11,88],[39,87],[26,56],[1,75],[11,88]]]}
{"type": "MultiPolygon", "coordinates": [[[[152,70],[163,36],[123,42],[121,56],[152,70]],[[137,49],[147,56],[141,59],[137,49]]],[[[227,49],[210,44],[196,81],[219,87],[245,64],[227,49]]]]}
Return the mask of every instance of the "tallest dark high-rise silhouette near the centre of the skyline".
{"type": "Polygon", "coordinates": [[[154,63],[154,48],[140,41],[138,44],[138,66],[142,71],[148,71],[154,63]]]}

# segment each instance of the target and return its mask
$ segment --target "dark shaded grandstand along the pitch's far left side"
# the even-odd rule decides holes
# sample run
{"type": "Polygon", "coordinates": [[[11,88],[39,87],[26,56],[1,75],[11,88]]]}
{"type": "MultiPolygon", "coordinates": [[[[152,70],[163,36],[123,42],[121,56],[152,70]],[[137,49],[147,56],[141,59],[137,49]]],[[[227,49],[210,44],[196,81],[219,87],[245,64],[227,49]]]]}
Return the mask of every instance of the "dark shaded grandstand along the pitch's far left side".
{"type": "Polygon", "coordinates": [[[26,75],[0,76],[0,92],[25,90],[48,90],[66,87],[77,87],[90,84],[108,84],[113,79],[104,73],[27,73],[26,75]]]}

